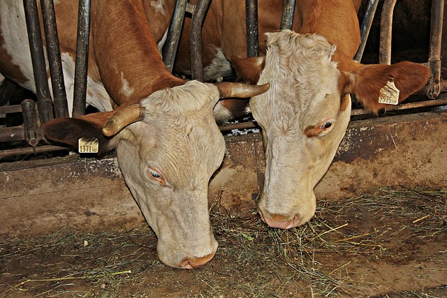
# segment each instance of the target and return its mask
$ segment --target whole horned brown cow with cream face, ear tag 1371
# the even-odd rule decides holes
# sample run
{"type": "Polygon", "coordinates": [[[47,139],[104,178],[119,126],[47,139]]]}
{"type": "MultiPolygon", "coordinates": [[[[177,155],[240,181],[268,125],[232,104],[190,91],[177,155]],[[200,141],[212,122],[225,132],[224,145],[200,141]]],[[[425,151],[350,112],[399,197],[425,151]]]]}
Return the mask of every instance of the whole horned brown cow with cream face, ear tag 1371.
{"type": "MultiPolygon", "coordinates": [[[[87,103],[101,112],[55,119],[43,132],[73,147],[80,137],[97,139],[98,154],[116,149],[126,184],[158,237],[159,259],[193,269],[210,261],[218,246],[207,187],[225,142],[213,108],[219,98],[253,96],[268,85],[185,82],[172,75],[156,44],[168,27],[170,3],[153,3],[91,1],[87,103]]],[[[60,0],[54,8],[72,106],[78,1],[60,0]]],[[[0,1],[0,36],[1,73],[35,92],[22,1],[0,1]]]]}

